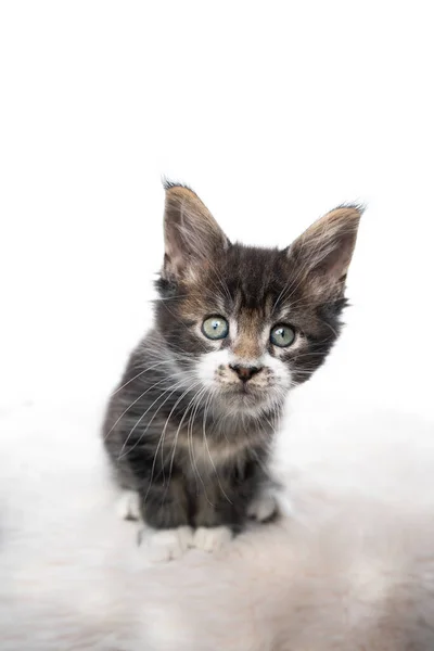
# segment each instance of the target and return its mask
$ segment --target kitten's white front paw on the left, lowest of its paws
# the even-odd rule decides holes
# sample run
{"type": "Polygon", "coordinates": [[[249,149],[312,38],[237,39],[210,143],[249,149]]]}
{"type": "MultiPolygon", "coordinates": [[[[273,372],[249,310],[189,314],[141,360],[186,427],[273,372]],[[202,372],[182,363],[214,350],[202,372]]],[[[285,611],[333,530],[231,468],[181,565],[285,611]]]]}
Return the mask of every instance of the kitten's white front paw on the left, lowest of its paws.
{"type": "Polygon", "coordinates": [[[145,528],[140,536],[141,546],[153,563],[178,559],[189,547],[193,547],[193,529],[179,526],[170,529],[145,528]]]}

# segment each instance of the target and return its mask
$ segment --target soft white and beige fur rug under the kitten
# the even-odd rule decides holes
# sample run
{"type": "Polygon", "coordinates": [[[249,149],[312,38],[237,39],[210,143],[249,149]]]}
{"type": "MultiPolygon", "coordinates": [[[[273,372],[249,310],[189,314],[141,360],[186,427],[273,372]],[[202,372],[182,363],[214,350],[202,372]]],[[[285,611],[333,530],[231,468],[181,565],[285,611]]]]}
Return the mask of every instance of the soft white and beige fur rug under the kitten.
{"type": "Polygon", "coordinates": [[[293,397],[281,522],[159,565],[115,513],[101,409],[3,409],[2,651],[433,651],[433,423],[329,398],[293,397]]]}

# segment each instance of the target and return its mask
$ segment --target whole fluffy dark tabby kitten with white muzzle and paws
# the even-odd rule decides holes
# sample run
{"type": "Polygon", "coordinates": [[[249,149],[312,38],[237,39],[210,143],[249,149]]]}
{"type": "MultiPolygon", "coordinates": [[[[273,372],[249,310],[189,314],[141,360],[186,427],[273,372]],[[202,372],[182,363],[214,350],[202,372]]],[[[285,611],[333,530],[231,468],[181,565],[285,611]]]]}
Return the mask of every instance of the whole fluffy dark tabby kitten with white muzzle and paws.
{"type": "Polygon", "coordinates": [[[267,461],[291,387],[341,329],[361,209],[341,206],[283,251],[232,244],[189,188],[167,182],[155,324],[113,394],[103,436],[126,516],[157,556],[212,550],[275,511],[267,461]]]}

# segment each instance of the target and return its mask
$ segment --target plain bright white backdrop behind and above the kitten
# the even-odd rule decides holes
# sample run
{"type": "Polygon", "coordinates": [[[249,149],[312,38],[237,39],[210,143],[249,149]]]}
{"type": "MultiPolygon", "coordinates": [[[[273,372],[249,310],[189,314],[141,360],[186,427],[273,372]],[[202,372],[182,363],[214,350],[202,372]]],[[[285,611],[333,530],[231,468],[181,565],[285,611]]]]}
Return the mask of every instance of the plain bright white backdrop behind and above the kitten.
{"type": "Polygon", "coordinates": [[[315,382],[432,414],[433,54],[429,2],[2,2],[1,403],[117,381],[167,175],[246,243],[366,202],[315,382]]]}

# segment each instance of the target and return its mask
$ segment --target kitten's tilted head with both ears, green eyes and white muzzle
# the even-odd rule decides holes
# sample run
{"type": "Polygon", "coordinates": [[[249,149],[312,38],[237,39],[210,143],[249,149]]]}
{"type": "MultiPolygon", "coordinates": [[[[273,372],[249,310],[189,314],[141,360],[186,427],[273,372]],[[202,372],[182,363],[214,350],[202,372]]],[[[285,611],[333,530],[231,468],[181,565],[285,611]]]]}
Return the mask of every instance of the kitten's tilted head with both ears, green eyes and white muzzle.
{"type": "Polygon", "coordinates": [[[186,381],[226,411],[280,406],[340,333],[360,215],[342,206],[282,251],[251,247],[232,244],[194,192],[166,183],[157,328],[186,381]]]}

